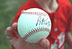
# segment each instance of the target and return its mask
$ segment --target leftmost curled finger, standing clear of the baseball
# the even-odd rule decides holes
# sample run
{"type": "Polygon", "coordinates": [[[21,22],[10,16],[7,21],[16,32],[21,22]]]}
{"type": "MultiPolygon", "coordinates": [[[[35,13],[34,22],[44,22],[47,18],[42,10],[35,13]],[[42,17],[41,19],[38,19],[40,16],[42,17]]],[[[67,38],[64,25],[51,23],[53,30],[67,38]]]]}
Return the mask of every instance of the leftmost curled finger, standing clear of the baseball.
{"type": "Polygon", "coordinates": [[[14,46],[15,43],[17,42],[17,39],[15,37],[13,37],[12,35],[12,28],[11,27],[8,27],[6,29],[6,37],[7,39],[11,42],[11,44],[14,46]]]}

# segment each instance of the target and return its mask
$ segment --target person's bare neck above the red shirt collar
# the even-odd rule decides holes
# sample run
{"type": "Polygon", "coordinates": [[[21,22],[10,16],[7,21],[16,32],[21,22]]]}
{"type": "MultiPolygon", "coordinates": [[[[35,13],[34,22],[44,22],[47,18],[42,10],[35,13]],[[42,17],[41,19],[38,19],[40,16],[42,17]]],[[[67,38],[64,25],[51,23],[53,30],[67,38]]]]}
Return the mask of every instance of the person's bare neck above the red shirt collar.
{"type": "Polygon", "coordinates": [[[35,0],[40,7],[49,13],[55,12],[58,8],[57,0],[35,0]]]}

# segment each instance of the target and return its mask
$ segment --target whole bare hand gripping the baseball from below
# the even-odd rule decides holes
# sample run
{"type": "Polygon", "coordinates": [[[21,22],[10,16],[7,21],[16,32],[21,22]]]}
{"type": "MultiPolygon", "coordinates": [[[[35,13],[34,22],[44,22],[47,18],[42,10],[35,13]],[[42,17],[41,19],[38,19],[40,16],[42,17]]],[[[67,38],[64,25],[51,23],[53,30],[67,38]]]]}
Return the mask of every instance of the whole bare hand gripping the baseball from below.
{"type": "Polygon", "coordinates": [[[49,42],[47,39],[42,39],[38,43],[28,43],[20,38],[20,36],[18,36],[18,39],[13,37],[12,29],[14,29],[15,33],[17,33],[17,23],[14,23],[12,27],[7,27],[6,29],[7,39],[9,39],[15,49],[48,49],[49,42]]]}

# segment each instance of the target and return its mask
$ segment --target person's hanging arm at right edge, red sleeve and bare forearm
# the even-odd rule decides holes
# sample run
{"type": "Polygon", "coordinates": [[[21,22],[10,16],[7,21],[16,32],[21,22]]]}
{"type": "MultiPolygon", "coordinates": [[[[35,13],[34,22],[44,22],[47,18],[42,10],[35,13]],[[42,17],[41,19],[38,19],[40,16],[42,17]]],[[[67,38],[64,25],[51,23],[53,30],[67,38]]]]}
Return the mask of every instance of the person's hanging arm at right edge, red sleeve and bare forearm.
{"type": "Polygon", "coordinates": [[[70,31],[72,31],[72,6],[71,4],[69,4],[68,6],[68,23],[67,23],[67,32],[66,32],[66,36],[65,36],[65,42],[69,45],[69,47],[72,49],[72,34],[70,31]]]}

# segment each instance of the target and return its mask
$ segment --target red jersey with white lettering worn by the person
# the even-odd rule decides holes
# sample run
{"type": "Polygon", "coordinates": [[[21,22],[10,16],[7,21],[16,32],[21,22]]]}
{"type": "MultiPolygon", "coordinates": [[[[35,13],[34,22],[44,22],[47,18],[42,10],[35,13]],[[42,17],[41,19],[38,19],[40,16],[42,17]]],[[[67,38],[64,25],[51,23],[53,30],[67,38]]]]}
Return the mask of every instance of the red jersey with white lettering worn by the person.
{"type": "MultiPolygon", "coordinates": [[[[50,41],[50,49],[64,49],[65,33],[72,30],[71,4],[68,0],[58,0],[58,4],[59,7],[56,12],[48,13],[42,9],[34,0],[28,0],[17,12],[13,23],[18,22],[18,18],[22,10],[27,10],[29,8],[40,8],[44,10],[50,15],[52,22],[51,33],[47,37],[47,39],[50,41]]],[[[17,38],[14,32],[13,35],[17,38]]]]}

